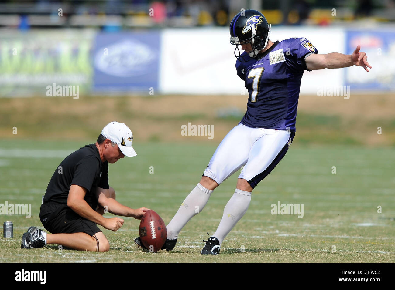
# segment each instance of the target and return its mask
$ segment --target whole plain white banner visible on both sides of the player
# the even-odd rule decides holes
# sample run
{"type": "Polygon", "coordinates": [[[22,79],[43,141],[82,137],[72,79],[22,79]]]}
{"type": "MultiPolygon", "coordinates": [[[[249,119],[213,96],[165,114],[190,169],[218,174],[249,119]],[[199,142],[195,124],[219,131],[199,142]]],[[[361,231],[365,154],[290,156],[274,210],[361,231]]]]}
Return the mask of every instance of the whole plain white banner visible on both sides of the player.
{"type": "MultiPolygon", "coordinates": [[[[291,37],[307,38],[318,53],[346,52],[344,28],[272,26],[270,39],[273,42],[291,37]]],[[[162,94],[248,94],[245,83],[236,74],[235,47],[229,43],[228,28],[166,29],[162,39],[162,94]],[[185,44],[173,45],[179,39],[183,39],[185,44]]],[[[243,51],[240,49],[240,52],[243,51]]],[[[306,71],[301,82],[301,94],[316,94],[322,86],[339,87],[344,84],[342,70],[306,71]]]]}

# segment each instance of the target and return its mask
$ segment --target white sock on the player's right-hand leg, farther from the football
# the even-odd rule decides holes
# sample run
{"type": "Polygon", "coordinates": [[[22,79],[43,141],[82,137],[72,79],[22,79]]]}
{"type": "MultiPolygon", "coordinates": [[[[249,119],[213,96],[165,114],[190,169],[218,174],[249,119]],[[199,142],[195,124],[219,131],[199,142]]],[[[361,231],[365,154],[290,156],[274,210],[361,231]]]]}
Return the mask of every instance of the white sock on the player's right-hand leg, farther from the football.
{"type": "Polygon", "coordinates": [[[224,208],[224,215],[222,215],[220,224],[218,225],[218,228],[212,237],[217,238],[221,244],[226,235],[229,234],[232,228],[247,212],[250,202],[251,193],[249,191],[236,189],[235,193],[226,204],[224,208]]]}

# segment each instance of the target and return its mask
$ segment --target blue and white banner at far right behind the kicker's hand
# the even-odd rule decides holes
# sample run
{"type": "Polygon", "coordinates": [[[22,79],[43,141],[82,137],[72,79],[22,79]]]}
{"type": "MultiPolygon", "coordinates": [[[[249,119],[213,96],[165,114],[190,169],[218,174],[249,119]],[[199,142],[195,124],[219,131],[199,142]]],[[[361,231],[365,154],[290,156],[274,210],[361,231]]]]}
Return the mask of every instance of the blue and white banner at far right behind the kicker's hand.
{"type": "Polygon", "coordinates": [[[348,30],[346,53],[352,54],[357,45],[366,52],[372,66],[369,72],[362,67],[348,67],[345,82],[351,90],[395,90],[395,34],[393,30],[348,30]]]}

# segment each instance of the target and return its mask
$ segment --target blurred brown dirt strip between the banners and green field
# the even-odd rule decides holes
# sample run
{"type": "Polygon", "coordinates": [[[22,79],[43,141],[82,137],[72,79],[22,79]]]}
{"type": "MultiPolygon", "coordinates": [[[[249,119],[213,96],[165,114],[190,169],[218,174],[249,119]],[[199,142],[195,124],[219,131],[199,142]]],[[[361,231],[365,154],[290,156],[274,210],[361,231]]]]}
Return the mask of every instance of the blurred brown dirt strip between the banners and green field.
{"type": "MultiPolygon", "coordinates": [[[[135,140],[218,143],[237,125],[245,113],[246,102],[246,95],[0,99],[0,133],[4,138],[78,140],[96,138],[104,125],[117,120],[132,129],[135,140]],[[214,138],[182,136],[181,125],[188,122],[214,125],[214,138]],[[17,127],[17,135],[12,134],[13,127],[17,127]]],[[[297,137],[312,143],[338,140],[339,143],[394,145],[393,108],[393,94],[351,94],[348,100],[302,95],[297,137]],[[382,134],[377,134],[377,127],[382,127],[382,134]]]]}

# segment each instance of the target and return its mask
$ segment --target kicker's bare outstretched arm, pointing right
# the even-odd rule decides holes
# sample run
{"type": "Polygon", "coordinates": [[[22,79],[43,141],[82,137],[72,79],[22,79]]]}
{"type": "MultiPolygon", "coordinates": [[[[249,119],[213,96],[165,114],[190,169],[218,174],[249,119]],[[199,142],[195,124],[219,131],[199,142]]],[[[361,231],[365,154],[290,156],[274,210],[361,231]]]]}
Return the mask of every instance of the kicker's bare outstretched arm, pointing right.
{"type": "Polygon", "coordinates": [[[359,52],[361,46],[358,45],[352,54],[341,54],[332,52],[328,54],[310,54],[306,58],[308,69],[339,69],[341,67],[349,67],[352,65],[362,66],[365,71],[369,71],[367,67],[372,68],[367,62],[365,52],[359,52]]]}

